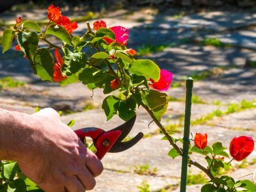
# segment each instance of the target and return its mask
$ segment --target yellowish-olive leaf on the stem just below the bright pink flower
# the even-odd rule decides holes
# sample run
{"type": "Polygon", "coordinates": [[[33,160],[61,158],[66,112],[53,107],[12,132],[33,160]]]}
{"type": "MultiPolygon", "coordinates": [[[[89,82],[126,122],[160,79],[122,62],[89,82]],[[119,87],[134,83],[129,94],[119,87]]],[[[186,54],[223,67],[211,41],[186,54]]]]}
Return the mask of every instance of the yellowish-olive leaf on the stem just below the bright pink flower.
{"type": "Polygon", "coordinates": [[[143,94],[143,101],[150,109],[152,109],[157,120],[161,121],[161,117],[168,107],[168,96],[166,93],[150,90],[148,94],[143,94]]]}

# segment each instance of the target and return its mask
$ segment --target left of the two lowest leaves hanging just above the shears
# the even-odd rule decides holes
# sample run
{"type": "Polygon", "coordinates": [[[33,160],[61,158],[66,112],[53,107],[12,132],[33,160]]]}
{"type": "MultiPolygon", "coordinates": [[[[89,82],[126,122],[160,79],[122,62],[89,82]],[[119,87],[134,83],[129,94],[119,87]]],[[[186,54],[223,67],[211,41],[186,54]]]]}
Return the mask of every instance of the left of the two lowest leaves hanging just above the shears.
{"type": "Polygon", "coordinates": [[[107,116],[107,121],[117,114],[116,108],[118,108],[120,99],[113,95],[106,97],[102,102],[102,109],[107,116]]]}

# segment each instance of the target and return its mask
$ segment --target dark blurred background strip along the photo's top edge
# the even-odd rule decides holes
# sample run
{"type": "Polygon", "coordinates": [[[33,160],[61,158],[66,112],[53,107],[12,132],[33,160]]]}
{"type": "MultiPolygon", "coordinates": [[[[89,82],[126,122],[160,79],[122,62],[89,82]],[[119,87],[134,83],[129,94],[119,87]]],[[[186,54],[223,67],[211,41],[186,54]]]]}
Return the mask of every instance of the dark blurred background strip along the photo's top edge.
{"type": "Polygon", "coordinates": [[[168,8],[184,8],[187,11],[191,10],[193,12],[200,12],[204,9],[246,9],[246,10],[256,10],[256,1],[254,0],[73,0],[73,1],[47,1],[47,0],[0,0],[0,12],[6,10],[12,11],[24,11],[35,8],[35,6],[49,6],[49,4],[54,4],[54,6],[73,8],[83,8],[83,10],[90,11],[111,11],[117,9],[128,9],[134,10],[136,8],[141,8],[143,6],[150,6],[159,9],[159,11],[164,11],[168,8]]]}

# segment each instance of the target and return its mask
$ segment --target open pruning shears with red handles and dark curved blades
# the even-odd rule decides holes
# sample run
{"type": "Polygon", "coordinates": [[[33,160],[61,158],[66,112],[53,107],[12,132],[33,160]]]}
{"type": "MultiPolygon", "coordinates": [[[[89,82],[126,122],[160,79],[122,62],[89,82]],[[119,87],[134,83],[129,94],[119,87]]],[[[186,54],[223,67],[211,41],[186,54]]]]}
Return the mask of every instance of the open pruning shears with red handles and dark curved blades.
{"type": "Polygon", "coordinates": [[[75,132],[82,141],[85,139],[85,137],[92,138],[93,144],[95,148],[97,148],[97,152],[95,153],[95,155],[99,159],[102,159],[107,152],[122,152],[124,150],[127,150],[128,148],[131,148],[133,145],[141,140],[141,138],[143,137],[143,133],[139,132],[131,140],[122,142],[122,140],[124,140],[124,138],[131,131],[135,120],[136,116],[132,117],[124,124],[109,131],[104,131],[103,129],[97,127],[86,127],[83,129],[78,129],[75,132]]]}

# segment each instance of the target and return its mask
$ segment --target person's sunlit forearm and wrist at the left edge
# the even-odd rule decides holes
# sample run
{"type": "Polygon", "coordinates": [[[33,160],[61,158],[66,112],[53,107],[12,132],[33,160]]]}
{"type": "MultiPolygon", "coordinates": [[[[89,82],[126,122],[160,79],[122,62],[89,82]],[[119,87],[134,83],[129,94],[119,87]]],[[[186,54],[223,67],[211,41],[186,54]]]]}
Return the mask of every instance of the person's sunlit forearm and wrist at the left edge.
{"type": "MultiPolygon", "coordinates": [[[[35,136],[36,127],[31,116],[13,109],[0,108],[0,160],[18,161],[29,150],[29,140],[35,136]]],[[[32,147],[32,146],[31,146],[32,147]]]]}

